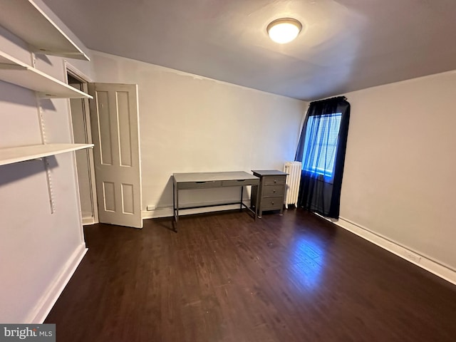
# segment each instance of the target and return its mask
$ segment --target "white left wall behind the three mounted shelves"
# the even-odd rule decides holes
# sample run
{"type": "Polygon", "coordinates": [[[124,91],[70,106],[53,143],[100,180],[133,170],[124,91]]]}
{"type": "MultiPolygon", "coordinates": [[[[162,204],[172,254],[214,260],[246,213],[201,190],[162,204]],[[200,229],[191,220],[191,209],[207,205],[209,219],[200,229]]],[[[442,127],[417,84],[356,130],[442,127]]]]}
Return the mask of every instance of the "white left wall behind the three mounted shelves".
{"type": "MultiPolygon", "coordinates": [[[[26,44],[0,28],[0,49],[31,63],[26,44]]],[[[81,64],[81,62],[78,62],[81,64]]],[[[65,80],[62,58],[37,68],[65,80]]],[[[88,68],[87,70],[90,70],[88,68]]],[[[41,100],[46,142],[71,142],[68,100],[41,100]]],[[[0,148],[41,143],[35,93],[0,81],[0,148]]],[[[0,322],[40,322],[86,252],[72,153],[49,157],[56,210],[43,162],[0,166],[0,322]]]]}

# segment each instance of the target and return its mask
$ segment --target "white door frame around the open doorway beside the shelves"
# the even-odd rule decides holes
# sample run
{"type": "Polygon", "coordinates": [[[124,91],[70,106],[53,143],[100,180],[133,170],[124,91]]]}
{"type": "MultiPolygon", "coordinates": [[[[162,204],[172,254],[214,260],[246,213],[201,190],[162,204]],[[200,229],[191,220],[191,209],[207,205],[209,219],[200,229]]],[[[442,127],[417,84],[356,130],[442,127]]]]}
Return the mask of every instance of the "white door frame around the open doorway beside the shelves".
{"type": "MultiPolygon", "coordinates": [[[[64,64],[65,64],[65,76],[70,75],[73,78],[76,78],[76,80],[81,81],[82,86],[83,86],[82,91],[84,93],[88,93],[88,83],[92,83],[93,81],[88,76],[86,76],[84,73],[79,71],[78,68],[76,68],[75,66],[71,65],[71,63],[68,63],[68,61],[65,61],[64,64]]],[[[66,81],[68,83],[68,78],[67,78],[66,81]]],[[[83,101],[84,113],[85,113],[86,137],[87,137],[87,140],[88,140],[87,143],[88,144],[92,144],[93,140],[92,140],[92,130],[91,130],[91,127],[90,127],[90,105],[89,105],[89,100],[88,100],[88,98],[81,98],[81,100],[83,101]]],[[[70,101],[71,100],[68,99],[68,112],[71,115],[71,103],[70,103],[70,101]]],[[[71,140],[72,140],[71,142],[74,142],[73,120],[71,119],[71,117],[70,117],[69,123],[70,123],[70,126],[71,126],[71,140]]],[[[97,187],[96,187],[96,183],[95,183],[96,182],[95,181],[95,162],[93,160],[93,149],[89,148],[89,149],[87,149],[87,151],[88,151],[88,165],[89,165],[88,172],[89,172],[89,175],[90,175],[90,177],[89,177],[89,180],[90,180],[90,194],[91,194],[90,201],[92,202],[93,222],[92,222],[92,220],[90,220],[90,222],[84,221],[84,218],[82,218],[83,225],[85,225],[85,224],[95,224],[95,223],[99,222],[99,220],[98,220],[97,187]]],[[[75,160],[75,165],[76,165],[76,155],[74,156],[74,160],[75,160]]],[[[76,173],[76,180],[78,181],[78,188],[79,188],[77,165],[76,165],[76,172],[75,173],[76,173]]],[[[79,194],[79,191],[78,191],[78,194],[79,194]]],[[[78,202],[79,202],[79,210],[81,211],[81,197],[79,195],[78,195],[78,202]]]]}

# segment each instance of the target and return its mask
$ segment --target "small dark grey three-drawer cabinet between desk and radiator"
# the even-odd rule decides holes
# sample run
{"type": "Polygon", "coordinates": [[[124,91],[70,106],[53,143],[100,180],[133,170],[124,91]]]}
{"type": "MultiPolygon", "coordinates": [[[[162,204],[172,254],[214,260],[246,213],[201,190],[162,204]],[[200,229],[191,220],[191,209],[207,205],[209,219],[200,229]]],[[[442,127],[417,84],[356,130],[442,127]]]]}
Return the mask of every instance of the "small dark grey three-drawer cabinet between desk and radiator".
{"type": "MultiPolygon", "coordinates": [[[[259,177],[258,217],[261,217],[261,214],[267,210],[280,210],[280,214],[282,214],[288,173],[278,170],[252,170],[252,172],[254,172],[254,176],[259,177]]],[[[255,207],[257,203],[256,187],[252,187],[251,207],[255,207]]]]}

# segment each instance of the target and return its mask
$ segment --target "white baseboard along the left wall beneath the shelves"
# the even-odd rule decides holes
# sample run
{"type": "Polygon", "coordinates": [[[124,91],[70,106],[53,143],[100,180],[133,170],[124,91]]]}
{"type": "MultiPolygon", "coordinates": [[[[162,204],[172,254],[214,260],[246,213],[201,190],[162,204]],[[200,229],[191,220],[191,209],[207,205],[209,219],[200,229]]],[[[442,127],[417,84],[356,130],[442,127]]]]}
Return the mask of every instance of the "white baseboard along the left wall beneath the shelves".
{"type": "Polygon", "coordinates": [[[41,296],[38,304],[28,314],[24,323],[43,323],[87,251],[88,249],[84,242],[76,248],[76,251],[73,252],[68,261],[66,261],[66,264],[63,265],[60,274],[56,276],[51,285],[48,286],[46,293],[41,296]]]}

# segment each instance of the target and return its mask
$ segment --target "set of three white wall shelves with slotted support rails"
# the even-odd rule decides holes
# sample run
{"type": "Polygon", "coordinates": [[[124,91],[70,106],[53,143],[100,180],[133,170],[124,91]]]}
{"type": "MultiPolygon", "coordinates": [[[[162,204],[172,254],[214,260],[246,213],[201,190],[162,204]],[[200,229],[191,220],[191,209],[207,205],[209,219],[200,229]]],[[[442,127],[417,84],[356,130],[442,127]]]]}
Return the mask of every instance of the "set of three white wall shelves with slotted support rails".
{"type": "MultiPolygon", "coordinates": [[[[34,61],[33,53],[89,61],[88,56],[83,53],[81,48],[78,48],[32,0],[0,0],[0,26],[28,43],[31,61],[34,61]]],[[[0,81],[34,90],[39,98],[92,98],[81,90],[68,86],[68,84],[48,76],[33,66],[0,51],[0,81]]],[[[39,103],[40,101],[37,102],[43,144],[1,148],[0,165],[43,158],[43,171],[46,173],[49,203],[51,204],[51,214],[53,214],[56,207],[53,198],[51,172],[46,157],[93,147],[93,144],[46,144],[46,135],[43,134],[45,125],[41,103],[39,103]]]]}

